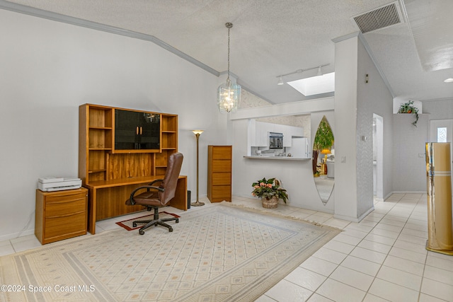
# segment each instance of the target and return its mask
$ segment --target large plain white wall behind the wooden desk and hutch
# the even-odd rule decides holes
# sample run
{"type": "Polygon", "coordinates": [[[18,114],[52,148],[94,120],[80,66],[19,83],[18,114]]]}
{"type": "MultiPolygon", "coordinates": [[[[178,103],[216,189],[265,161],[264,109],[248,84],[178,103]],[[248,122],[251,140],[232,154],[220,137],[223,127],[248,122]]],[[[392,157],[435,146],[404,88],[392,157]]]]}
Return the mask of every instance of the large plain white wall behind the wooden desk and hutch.
{"type": "MultiPolygon", "coordinates": [[[[207,190],[208,144],[222,144],[219,79],[151,42],[0,10],[0,240],[33,233],[42,176],[76,176],[79,105],[179,115],[179,150],[195,192],[207,190]]],[[[195,194],[193,194],[194,196],[195,194]]]]}

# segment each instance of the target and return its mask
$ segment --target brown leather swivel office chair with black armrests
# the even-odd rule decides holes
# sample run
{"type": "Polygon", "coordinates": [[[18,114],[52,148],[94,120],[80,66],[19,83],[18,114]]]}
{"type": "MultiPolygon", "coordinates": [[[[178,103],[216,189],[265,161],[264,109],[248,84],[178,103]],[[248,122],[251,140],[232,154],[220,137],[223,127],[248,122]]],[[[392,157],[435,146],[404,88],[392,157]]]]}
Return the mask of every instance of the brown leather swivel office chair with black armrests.
{"type": "Polygon", "coordinates": [[[154,219],[148,221],[134,221],[132,226],[137,226],[137,223],[146,223],[142,228],[139,228],[139,234],[143,235],[144,230],[150,226],[165,226],[169,232],[173,232],[173,228],[165,223],[165,221],[179,222],[178,218],[159,219],[159,207],[165,207],[170,200],[175,197],[176,185],[178,184],[179,173],[183,165],[183,154],[173,153],[168,157],[167,171],[164,179],[154,180],[149,185],[137,187],[130,194],[130,199],[126,200],[127,205],[142,204],[148,211],[154,209],[154,219]],[[160,184],[159,184],[160,183],[160,184]],[[159,184],[159,187],[156,185],[159,184]],[[135,195],[139,190],[147,189],[147,191],[135,195]]]}

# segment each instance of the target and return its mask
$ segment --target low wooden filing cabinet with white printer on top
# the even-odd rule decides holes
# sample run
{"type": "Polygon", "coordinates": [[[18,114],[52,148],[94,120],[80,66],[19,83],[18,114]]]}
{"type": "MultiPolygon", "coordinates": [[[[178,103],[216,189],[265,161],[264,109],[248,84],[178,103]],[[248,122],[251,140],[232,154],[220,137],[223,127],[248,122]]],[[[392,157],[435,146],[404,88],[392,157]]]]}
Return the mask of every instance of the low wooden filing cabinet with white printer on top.
{"type": "Polygon", "coordinates": [[[86,234],[88,190],[36,190],[35,236],[46,244],[86,234]]]}

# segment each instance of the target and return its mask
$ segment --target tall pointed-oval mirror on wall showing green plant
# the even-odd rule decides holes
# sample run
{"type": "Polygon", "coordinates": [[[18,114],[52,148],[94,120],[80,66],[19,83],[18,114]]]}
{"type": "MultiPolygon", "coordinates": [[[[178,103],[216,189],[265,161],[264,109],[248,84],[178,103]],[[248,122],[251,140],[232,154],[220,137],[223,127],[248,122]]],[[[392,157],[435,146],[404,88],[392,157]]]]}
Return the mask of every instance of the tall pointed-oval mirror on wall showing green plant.
{"type": "Polygon", "coordinates": [[[324,115],[313,141],[313,177],[321,201],[327,204],[335,183],[333,132],[324,115]]]}

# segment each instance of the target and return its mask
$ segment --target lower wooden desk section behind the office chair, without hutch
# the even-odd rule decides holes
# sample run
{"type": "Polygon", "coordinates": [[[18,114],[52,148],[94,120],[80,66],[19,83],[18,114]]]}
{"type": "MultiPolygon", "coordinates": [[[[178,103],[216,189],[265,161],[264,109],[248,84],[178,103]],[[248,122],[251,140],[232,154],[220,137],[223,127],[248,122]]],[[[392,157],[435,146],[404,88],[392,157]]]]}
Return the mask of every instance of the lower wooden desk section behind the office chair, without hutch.
{"type": "MultiPolygon", "coordinates": [[[[96,233],[96,221],[115,216],[142,211],[143,206],[127,206],[126,200],[130,193],[137,187],[148,185],[149,182],[163,179],[164,175],[153,175],[139,178],[126,178],[119,180],[102,180],[90,182],[84,187],[88,188],[88,232],[96,233]]],[[[175,197],[169,205],[187,211],[187,176],[180,175],[175,197]]]]}

